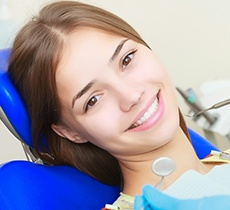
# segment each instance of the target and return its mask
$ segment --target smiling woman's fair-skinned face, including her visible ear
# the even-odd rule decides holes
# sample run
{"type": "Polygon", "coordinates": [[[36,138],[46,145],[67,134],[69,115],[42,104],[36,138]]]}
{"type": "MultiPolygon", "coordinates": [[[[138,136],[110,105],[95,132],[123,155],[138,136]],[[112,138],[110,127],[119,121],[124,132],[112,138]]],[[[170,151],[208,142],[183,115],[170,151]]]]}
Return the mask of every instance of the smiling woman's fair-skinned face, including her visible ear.
{"type": "Polygon", "coordinates": [[[66,40],[56,72],[61,136],[117,158],[166,144],[179,127],[171,80],[153,52],[125,37],[81,28],[66,40]]]}

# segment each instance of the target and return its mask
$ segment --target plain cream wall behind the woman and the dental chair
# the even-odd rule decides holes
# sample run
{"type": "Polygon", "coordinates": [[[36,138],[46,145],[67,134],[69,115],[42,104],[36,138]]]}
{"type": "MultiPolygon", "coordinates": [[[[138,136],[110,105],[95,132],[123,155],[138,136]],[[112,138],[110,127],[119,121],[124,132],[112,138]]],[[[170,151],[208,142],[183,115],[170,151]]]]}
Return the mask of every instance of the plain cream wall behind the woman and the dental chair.
{"type": "MultiPolygon", "coordinates": [[[[0,0],[0,47],[11,44],[17,29],[51,0],[0,0]],[[2,3],[11,12],[4,25],[2,3]],[[8,22],[9,23],[9,22],[8,22]],[[7,34],[7,36],[4,36],[7,34]]],[[[199,95],[205,81],[230,79],[229,0],[82,0],[127,20],[149,43],[176,86],[192,87],[199,95]]],[[[178,95],[183,112],[188,108],[178,95]]],[[[190,127],[201,134],[193,122],[190,127]]],[[[0,124],[0,162],[24,158],[20,144],[0,124]]]]}

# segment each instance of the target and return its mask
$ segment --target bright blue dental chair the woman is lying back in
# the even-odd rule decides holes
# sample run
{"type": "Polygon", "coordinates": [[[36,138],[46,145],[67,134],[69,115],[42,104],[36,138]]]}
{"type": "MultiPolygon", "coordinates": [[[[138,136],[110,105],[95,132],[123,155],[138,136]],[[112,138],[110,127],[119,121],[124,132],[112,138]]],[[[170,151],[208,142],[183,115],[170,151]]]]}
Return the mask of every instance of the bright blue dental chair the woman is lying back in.
{"type": "MultiPolygon", "coordinates": [[[[1,163],[0,210],[100,210],[113,203],[119,187],[102,184],[70,166],[44,165],[33,156],[30,120],[7,73],[9,55],[10,49],[0,50],[0,119],[21,141],[28,161],[1,163]]],[[[194,131],[189,134],[200,159],[218,150],[194,131]]]]}

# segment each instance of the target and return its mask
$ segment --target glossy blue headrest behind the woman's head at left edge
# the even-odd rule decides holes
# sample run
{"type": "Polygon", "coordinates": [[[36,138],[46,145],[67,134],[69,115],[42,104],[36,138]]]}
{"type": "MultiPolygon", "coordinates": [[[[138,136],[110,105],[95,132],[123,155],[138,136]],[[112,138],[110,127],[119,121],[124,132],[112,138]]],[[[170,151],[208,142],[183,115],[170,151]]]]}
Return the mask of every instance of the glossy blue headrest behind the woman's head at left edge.
{"type": "Polygon", "coordinates": [[[33,147],[27,110],[7,72],[9,55],[10,49],[0,50],[0,119],[16,138],[33,147]]]}

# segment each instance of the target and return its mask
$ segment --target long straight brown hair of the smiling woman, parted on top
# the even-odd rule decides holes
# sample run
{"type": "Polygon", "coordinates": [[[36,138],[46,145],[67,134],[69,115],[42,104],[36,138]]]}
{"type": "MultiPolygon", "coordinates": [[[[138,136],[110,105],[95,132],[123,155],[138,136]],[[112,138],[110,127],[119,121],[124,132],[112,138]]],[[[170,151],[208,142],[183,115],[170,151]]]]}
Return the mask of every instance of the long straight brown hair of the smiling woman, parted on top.
{"type": "MultiPolygon", "coordinates": [[[[148,47],[116,15],[92,5],[61,1],[45,6],[20,30],[12,47],[8,71],[28,110],[33,145],[39,156],[50,164],[74,166],[105,184],[122,186],[120,167],[113,156],[89,142],[75,144],[51,129],[51,124],[57,124],[61,118],[55,73],[64,39],[82,26],[109,31],[148,47]]],[[[187,132],[181,113],[180,120],[187,132]]]]}

